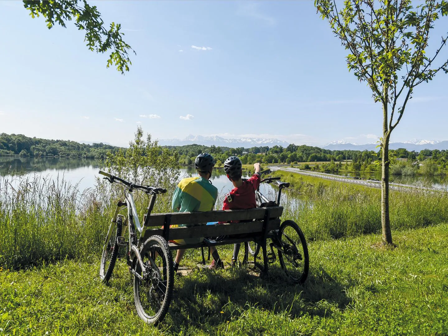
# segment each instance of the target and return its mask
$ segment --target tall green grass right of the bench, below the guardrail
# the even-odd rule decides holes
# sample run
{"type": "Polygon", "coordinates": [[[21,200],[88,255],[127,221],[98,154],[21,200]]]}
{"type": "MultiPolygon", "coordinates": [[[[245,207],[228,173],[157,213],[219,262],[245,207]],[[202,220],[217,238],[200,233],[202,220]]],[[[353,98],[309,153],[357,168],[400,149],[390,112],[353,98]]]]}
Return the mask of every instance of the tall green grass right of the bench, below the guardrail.
{"type": "MultiPolygon", "coordinates": [[[[282,198],[283,219],[299,224],[307,239],[321,240],[381,231],[381,191],[341,182],[304,180],[276,172],[291,187],[282,198]]],[[[425,190],[390,192],[392,229],[422,228],[448,221],[448,193],[425,190]]]]}

